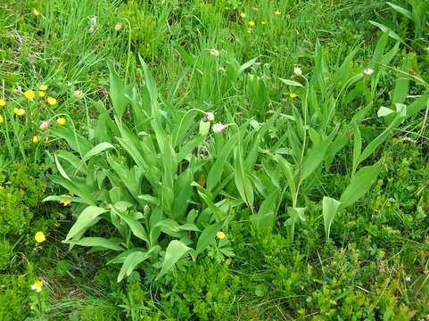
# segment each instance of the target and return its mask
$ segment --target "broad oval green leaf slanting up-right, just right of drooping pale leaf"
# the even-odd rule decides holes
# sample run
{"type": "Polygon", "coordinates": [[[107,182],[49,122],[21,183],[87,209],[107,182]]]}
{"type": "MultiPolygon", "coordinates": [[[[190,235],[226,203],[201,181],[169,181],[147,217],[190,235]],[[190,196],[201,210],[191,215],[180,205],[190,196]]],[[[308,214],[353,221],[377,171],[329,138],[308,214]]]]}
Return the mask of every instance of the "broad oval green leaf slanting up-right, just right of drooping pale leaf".
{"type": "Polygon", "coordinates": [[[373,166],[366,166],[359,169],[356,174],[351,178],[350,184],[342,192],[340,202],[342,208],[351,206],[354,202],[358,201],[363,195],[367,193],[371,185],[374,184],[381,169],[380,162],[375,163],[373,166]]]}

